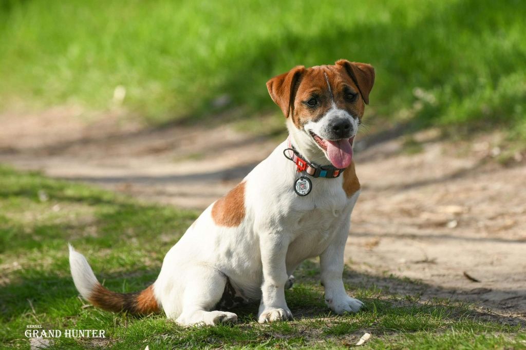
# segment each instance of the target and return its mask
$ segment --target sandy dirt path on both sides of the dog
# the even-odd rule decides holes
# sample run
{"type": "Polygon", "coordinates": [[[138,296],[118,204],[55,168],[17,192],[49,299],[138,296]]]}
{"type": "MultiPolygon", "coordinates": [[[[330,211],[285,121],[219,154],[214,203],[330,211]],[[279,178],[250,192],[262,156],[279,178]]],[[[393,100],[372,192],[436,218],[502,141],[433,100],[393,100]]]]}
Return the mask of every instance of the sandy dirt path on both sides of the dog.
{"type": "MultiPolygon", "coordinates": [[[[114,116],[86,123],[71,109],[0,114],[0,125],[1,163],[199,209],[278,143],[229,126],[145,129],[114,116]]],[[[401,138],[356,143],[362,194],[346,248],[355,282],[367,275],[393,292],[472,302],[523,322],[526,165],[488,161],[491,136],[469,144],[433,132],[417,138],[423,150],[413,155],[401,138]],[[420,281],[418,290],[403,278],[420,281]]]]}

